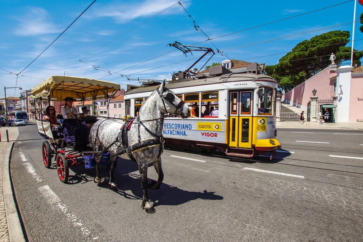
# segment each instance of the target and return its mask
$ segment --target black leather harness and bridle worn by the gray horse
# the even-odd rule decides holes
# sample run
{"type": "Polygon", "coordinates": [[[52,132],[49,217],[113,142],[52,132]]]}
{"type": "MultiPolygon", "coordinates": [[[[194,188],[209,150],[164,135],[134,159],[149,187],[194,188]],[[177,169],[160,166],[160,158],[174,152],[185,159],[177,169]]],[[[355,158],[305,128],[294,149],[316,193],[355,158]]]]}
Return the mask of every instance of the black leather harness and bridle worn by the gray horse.
{"type": "MultiPolygon", "coordinates": [[[[165,112],[167,112],[166,110],[166,106],[165,106],[165,101],[164,99],[166,99],[169,103],[171,103],[174,107],[176,107],[176,110],[175,112],[177,114],[181,114],[181,110],[180,110],[180,107],[183,106],[184,104],[184,101],[181,100],[178,104],[175,104],[173,101],[175,99],[174,95],[172,93],[168,93],[166,95],[166,97],[163,96],[163,93],[164,91],[167,90],[167,88],[164,88],[163,91],[159,91],[159,88],[156,89],[158,91],[158,94],[160,96],[160,98],[162,99],[163,101],[163,104],[164,104],[164,108],[165,108],[165,112]],[[169,95],[171,94],[171,95],[169,95]]],[[[164,118],[164,117],[162,117],[164,118]]],[[[154,120],[154,119],[153,119],[154,120]]],[[[156,120],[156,119],[155,119],[156,120]]],[[[152,120],[146,120],[146,121],[143,121],[143,122],[147,122],[147,121],[152,121],[152,120]]],[[[102,121],[103,122],[103,121],[102,121]]],[[[101,123],[102,123],[101,122],[101,123]]],[[[152,146],[152,145],[157,145],[157,144],[160,144],[160,149],[159,149],[159,154],[158,154],[158,159],[160,158],[161,154],[163,153],[163,150],[164,150],[164,137],[163,135],[161,136],[158,136],[156,134],[154,134],[152,131],[150,131],[144,124],[143,122],[140,121],[140,116],[137,116],[136,118],[129,118],[126,120],[125,124],[122,125],[122,127],[120,128],[120,132],[118,133],[117,135],[117,138],[115,139],[115,141],[113,141],[107,148],[105,148],[102,152],[99,152],[98,150],[96,150],[98,153],[102,154],[104,153],[105,151],[107,151],[112,145],[116,144],[118,147],[120,145],[122,145],[122,147],[124,148],[123,151],[117,153],[116,155],[112,155],[112,156],[119,156],[119,155],[122,155],[124,153],[127,152],[127,155],[129,156],[129,158],[131,160],[135,160],[134,156],[132,155],[132,151],[135,151],[135,150],[138,150],[138,149],[141,149],[141,148],[144,148],[144,147],[148,147],[148,146],[152,146]],[[128,134],[128,131],[130,130],[131,128],[131,125],[133,124],[134,120],[136,119],[137,121],[137,124],[138,124],[138,143],[136,144],[132,144],[132,145],[129,145],[129,140],[127,138],[127,134],[128,134]],[[140,136],[140,126],[143,126],[144,129],[151,135],[154,137],[154,139],[149,139],[149,140],[144,140],[144,141],[141,141],[141,136],[140,136]]],[[[96,144],[96,141],[97,141],[97,137],[98,137],[98,130],[99,130],[99,127],[101,126],[101,123],[99,124],[98,128],[97,128],[97,132],[96,132],[96,135],[95,135],[95,140],[94,140],[94,144],[96,144]]],[[[98,148],[97,148],[98,149],[98,148]]],[[[111,156],[110,156],[111,157],[111,156]]]]}

